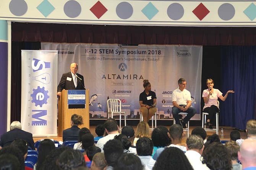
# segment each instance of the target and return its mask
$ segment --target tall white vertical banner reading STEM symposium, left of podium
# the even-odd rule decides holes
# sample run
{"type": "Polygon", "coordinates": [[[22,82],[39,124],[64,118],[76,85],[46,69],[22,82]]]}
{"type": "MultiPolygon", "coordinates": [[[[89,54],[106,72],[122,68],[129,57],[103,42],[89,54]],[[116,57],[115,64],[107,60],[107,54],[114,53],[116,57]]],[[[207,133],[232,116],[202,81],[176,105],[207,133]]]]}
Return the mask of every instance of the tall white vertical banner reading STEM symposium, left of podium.
{"type": "Polygon", "coordinates": [[[58,51],[21,50],[21,125],[33,136],[57,135],[58,51]]]}

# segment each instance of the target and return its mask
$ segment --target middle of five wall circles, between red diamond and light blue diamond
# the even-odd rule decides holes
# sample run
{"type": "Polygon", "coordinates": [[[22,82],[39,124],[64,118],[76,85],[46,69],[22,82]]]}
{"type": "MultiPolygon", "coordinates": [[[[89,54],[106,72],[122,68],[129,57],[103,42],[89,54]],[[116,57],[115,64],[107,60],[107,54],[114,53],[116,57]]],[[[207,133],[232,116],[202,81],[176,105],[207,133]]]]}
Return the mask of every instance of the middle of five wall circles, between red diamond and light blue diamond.
{"type": "Polygon", "coordinates": [[[133,14],[133,7],[128,2],[121,2],[117,5],[115,11],[119,18],[128,19],[133,14]]]}

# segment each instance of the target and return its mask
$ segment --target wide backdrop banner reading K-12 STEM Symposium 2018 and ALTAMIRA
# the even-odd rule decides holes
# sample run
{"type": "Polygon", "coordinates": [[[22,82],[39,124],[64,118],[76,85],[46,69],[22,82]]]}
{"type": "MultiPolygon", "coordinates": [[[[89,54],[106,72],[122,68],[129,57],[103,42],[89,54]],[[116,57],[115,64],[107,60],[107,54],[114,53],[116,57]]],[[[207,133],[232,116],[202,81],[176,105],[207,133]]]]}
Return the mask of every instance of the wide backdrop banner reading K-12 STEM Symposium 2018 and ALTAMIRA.
{"type": "Polygon", "coordinates": [[[128,119],[139,119],[144,79],[156,92],[157,119],[170,119],[172,91],[184,78],[197,110],[192,119],[200,120],[202,46],[41,43],[41,48],[58,50],[58,82],[71,63],[78,63],[90,89],[90,119],[107,118],[108,98],[122,101],[128,119]]]}

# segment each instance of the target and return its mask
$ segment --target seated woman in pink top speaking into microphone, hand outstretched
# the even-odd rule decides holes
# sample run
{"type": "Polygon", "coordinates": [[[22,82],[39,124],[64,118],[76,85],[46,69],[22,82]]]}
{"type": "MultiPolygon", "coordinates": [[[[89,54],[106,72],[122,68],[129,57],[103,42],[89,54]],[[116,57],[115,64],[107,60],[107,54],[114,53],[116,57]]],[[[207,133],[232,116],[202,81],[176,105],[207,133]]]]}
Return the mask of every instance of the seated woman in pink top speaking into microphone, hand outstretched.
{"type": "Polygon", "coordinates": [[[209,115],[207,115],[207,122],[205,123],[205,125],[208,126],[209,129],[212,129],[212,118],[217,112],[220,111],[217,103],[218,98],[220,98],[222,101],[225,101],[228,93],[235,93],[235,91],[228,90],[223,97],[222,93],[218,89],[213,88],[214,81],[212,79],[207,79],[206,85],[208,89],[204,90],[202,95],[202,97],[204,98],[203,112],[209,113],[209,115]]]}

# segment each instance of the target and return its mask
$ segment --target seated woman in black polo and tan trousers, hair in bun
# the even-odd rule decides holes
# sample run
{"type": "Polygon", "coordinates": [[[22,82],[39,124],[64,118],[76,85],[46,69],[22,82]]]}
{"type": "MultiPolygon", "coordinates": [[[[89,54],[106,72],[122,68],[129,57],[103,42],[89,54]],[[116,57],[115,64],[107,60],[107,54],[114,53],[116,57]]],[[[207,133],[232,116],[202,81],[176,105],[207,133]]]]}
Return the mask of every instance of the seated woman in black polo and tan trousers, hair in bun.
{"type": "Polygon", "coordinates": [[[139,111],[142,112],[143,120],[148,122],[156,112],[156,93],[151,91],[149,80],[143,80],[145,90],[139,95],[139,111]]]}

